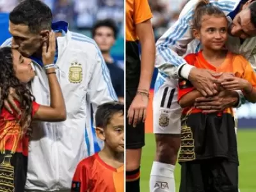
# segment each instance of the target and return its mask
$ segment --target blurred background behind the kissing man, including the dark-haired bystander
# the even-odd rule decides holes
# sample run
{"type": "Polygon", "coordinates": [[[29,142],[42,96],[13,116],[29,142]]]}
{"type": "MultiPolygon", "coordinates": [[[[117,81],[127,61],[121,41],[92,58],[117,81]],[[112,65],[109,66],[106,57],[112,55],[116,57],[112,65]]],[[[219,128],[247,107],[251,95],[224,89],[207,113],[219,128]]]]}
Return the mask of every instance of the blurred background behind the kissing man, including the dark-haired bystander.
{"type": "MultiPolygon", "coordinates": [[[[10,37],[8,33],[8,13],[10,13],[20,1],[22,0],[0,0],[0,45],[6,38],[10,37]]],[[[41,1],[51,8],[53,22],[65,20],[68,22],[70,31],[76,31],[95,39],[108,65],[116,94],[118,97],[124,97],[124,1],[41,1]],[[112,31],[109,32],[106,28],[96,31],[102,26],[103,28],[107,26],[107,28],[112,31]],[[109,36],[108,33],[112,35],[109,36]],[[115,76],[113,74],[115,74],[115,76]],[[122,79],[122,81],[120,81],[120,79],[122,79]]]]}

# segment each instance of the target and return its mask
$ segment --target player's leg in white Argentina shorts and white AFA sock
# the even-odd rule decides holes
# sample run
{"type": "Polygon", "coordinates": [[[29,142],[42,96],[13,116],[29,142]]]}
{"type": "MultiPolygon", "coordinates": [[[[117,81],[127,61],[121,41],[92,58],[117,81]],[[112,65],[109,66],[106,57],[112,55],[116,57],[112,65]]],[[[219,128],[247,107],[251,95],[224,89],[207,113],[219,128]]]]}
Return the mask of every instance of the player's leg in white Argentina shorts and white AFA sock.
{"type": "Polygon", "coordinates": [[[175,192],[174,170],[180,147],[180,114],[177,89],[164,83],[155,90],[153,100],[156,158],[150,173],[150,192],[175,192]]]}

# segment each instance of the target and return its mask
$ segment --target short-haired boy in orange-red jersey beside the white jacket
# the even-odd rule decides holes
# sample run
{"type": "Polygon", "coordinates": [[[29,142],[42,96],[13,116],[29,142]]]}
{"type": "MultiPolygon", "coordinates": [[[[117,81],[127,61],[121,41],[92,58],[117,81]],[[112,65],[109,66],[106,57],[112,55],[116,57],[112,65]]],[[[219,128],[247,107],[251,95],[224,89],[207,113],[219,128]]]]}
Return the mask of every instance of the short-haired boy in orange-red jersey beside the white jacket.
{"type": "Polygon", "coordinates": [[[108,102],[97,108],[97,136],[104,148],[83,159],[72,180],[72,192],[124,191],[124,104],[108,102]]]}

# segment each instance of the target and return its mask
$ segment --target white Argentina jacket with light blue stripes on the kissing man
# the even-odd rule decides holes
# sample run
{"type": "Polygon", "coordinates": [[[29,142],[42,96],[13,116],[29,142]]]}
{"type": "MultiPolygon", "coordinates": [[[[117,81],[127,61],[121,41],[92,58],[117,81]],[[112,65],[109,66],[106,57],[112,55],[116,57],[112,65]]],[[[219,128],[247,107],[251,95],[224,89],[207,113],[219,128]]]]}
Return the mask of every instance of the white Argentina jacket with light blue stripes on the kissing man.
{"type": "MultiPolygon", "coordinates": [[[[66,30],[57,38],[56,75],[67,109],[65,122],[33,122],[29,143],[26,189],[70,190],[76,166],[95,153],[93,113],[104,102],[117,100],[102,54],[91,38],[66,30]],[[85,128],[86,126],[86,128],[85,128]],[[86,138],[84,140],[84,138],[86,138]]],[[[3,45],[10,45],[8,39],[3,45]]],[[[36,102],[50,105],[47,76],[35,65],[31,83],[36,102]]]]}

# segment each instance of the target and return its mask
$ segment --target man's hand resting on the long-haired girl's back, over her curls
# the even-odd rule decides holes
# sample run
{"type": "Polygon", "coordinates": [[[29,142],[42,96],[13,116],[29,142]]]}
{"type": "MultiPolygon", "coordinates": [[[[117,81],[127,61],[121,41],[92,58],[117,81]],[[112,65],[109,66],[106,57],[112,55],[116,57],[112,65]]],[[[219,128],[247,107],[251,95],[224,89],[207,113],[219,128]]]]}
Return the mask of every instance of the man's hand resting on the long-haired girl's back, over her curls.
{"type": "Polygon", "coordinates": [[[13,114],[14,112],[17,113],[19,116],[21,114],[21,111],[14,100],[19,100],[19,96],[15,92],[14,88],[9,88],[9,95],[7,99],[4,99],[4,108],[9,111],[9,113],[13,114]],[[14,111],[13,111],[14,109],[14,111]]]}

